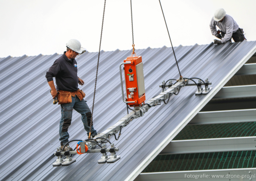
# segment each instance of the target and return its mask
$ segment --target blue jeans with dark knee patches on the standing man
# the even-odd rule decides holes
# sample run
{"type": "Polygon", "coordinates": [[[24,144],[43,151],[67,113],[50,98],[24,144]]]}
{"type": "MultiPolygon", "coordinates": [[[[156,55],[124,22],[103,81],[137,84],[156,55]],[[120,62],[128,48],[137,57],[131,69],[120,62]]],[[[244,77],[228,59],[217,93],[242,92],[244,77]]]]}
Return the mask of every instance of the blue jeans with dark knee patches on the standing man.
{"type": "MultiPolygon", "coordinates": [[[[90,121],[91,121],[91,111],[90,108],[87,106],[87,103],[82,99],[80,99],[75,96],[72,97],[72,103],[66,103],[61,104],[61,121],[60,121],[60,141],[61,143],[68,142],[68,138],[70,137],[67,129],[71,124],[72,120],[72,112],[73,109],[75,109],[77,112],[79,112],[82,116],[82,121],[84,124],[84,129],[87,131],[87,135],[89,135],[90,132],[90,121]]],[[[91,135],[97,135],[97,131],[91,127],[91,135]]]]}

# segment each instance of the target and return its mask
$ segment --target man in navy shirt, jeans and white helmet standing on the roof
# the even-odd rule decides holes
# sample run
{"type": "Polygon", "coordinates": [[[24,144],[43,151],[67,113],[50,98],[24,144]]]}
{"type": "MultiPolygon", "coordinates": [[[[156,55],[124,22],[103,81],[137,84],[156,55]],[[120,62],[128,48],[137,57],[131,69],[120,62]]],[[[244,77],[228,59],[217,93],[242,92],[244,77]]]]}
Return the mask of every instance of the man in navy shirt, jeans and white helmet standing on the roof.
{"type": "MultiPolygon", "coordinates": [[[[90,132],[91,111],[84,101],[84,92],[78,89],[78,83],[84,84],[84,81],[77,76],[77,63],[75,57],[81,53],[81,43],[72,39],[66,44],[67,52],[64,52],[46,72],[46,78],[51,87],[52,98],[58,98],[58,104],[61,104],[61,121],[59,125],[59,134],[61,141],[61,149],[68,142],[70,137],[67,130],[71,124],[72,111],[75,109],[81,114],[81,119],[84,124],[84,129],[87,135],[90,132]],[[53,77],[56,81],[56,89],[53,82],[53,77]]],[[[91,135],[97,135],[96,130],[91,126],[91,135]]],[[[70,147],[70,150],[73,150],[70,147]]]]}

